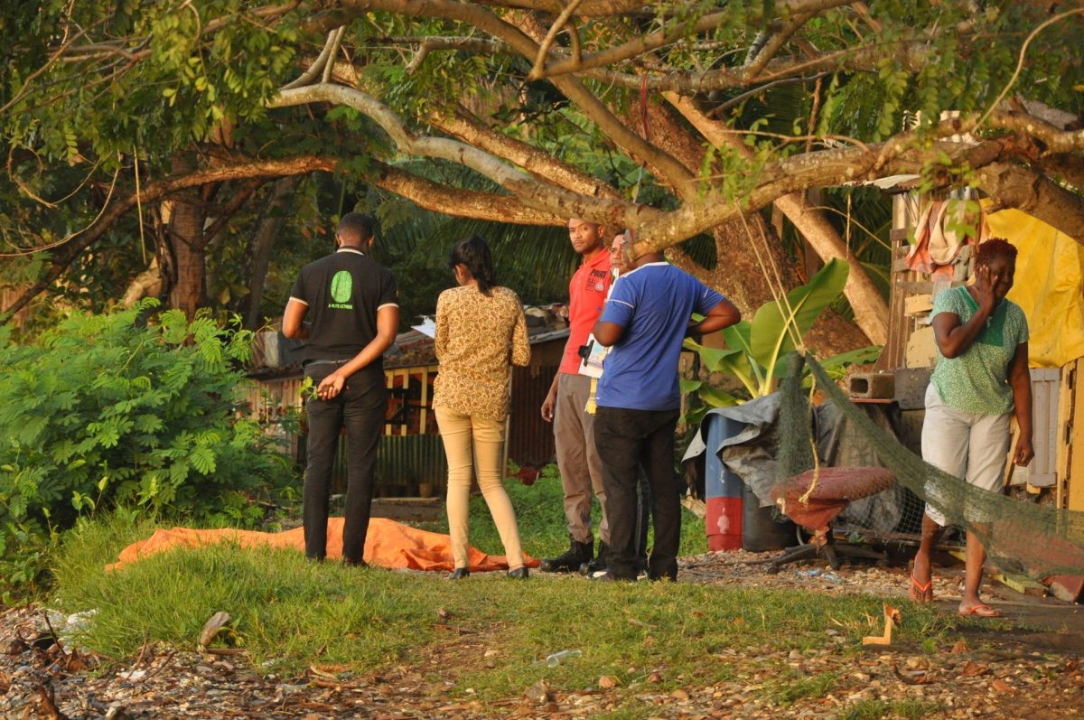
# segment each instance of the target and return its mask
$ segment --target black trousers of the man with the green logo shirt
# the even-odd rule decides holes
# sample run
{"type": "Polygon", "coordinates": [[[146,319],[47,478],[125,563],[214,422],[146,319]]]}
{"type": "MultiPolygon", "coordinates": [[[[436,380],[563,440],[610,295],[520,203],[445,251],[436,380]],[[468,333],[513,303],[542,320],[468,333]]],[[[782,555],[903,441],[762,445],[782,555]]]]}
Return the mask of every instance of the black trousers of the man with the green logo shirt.
{"type": "MultiPolygon", "coordinates": [[[[305,369],[315,385],[341,363],[319,362],[305,369]]],[[[343,391],[331,400],[309,397],[309,463],[302,491],[305,555],[318,560],[327,553],[327,498],[338,438],[346,428],[347,487],[343,512],[343,557],[360,561],[365,553],[369,514],[373,503],[373,465],[384,430],[388,391],[384,373],[361,370],[347,378],[343,391]]]]}

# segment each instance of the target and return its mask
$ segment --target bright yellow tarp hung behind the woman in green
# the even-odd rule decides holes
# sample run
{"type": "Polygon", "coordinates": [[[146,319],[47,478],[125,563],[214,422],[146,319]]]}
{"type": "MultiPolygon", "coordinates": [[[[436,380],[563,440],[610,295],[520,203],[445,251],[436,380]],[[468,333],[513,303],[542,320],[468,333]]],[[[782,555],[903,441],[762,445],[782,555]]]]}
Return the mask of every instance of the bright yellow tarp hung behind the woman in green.
{"type": "Polygon", "coordinates": [[[1084,356],[1084,245],[1020,210],[986,216],[991,237],[1019,249],[1008,298],[1028,317],[1032,368],[1060,368],[1084,356]]]}

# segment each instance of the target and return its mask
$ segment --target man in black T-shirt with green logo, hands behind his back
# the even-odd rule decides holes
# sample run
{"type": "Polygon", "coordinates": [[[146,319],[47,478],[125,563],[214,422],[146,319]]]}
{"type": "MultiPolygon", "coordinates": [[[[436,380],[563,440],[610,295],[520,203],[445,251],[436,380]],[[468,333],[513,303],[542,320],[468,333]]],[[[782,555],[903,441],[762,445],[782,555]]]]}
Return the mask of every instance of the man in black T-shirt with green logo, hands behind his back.
{"type": "Polygon", "coordinates": [[[373,245],[373,224],[360,213],[343,216],[335,235],[338,249],[301,268],[282,320],[286,337],[307,339],[305,375],[315,387],[305,402],[309,423],[301,496],[305,554],[318,561],[326,554],[332,465],[346,427],[346,565],[364,565],[373,464],[388,404],[383,356],[399,325],[396,281],[365,255],[373,245]]]}

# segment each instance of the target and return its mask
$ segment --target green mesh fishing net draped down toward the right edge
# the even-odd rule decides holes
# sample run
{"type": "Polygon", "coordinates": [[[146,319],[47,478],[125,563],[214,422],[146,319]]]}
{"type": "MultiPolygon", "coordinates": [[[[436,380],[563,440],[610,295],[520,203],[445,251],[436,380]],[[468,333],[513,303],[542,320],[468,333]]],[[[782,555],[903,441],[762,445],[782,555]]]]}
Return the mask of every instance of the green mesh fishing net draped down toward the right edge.
{"type": "MultiPolygon", "coordinates": [[[[898,487],[887,493],[907,492],[915,500],[932,504],[944,514],[949,525],[975,532],[990,560],[1005,571],[1034,578],[1084,575],[1084,513],[989,492],[924,462],[889,429],[851,402],[812,356],[797,352],[780,384],[777,483],[814,468],[818,462],[814,454],[816,413],[811,403],[805,369],[812,376],[813,386],[842,414],[879,464],[895,475],[898,487]]],[[[876,498],[870,500],[876,502],[876,498]]],[[[921,526],[922,502],[900,505],[896,527],[917,533],[921,526]]],[[[861,512],[850,512],[847,525],[883,530],[873,527],[875,523],[864,523],[861,512]]]]}

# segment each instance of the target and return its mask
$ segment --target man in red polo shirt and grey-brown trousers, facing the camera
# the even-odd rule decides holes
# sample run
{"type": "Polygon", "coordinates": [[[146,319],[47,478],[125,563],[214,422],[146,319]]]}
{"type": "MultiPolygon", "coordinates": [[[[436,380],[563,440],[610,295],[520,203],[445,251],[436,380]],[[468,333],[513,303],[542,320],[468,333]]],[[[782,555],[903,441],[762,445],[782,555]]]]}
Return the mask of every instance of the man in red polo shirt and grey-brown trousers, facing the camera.
{"type": "Polygon", "coordinates": [[[542,417],[552,422],[557,446],[557,466],[565,489],[565,515],[568,518],[570,544],[568,552],[542,561],[541,569],[552,573],[578,570],[594,558],[594,537],[591,532],[592,491],[602,503],[603,519],[598,524],[598,563],[591,569],[603,569],[609,526],[606,523],[606,492],[603,490],[602,462],[595,450],[594,415],[585,412],[591,394],[591,378],[579,373],[580,347],[588,342],[591,329],[602,313],[609,292],[610,258],[606,252],[606,230],[603,226],[572,218],[568,221],[568,237],[572,249],[583,257],[580,269],[568,286],[568,343],[560,368],[553,378],[550,393],[542,403],[542,417]]]}

